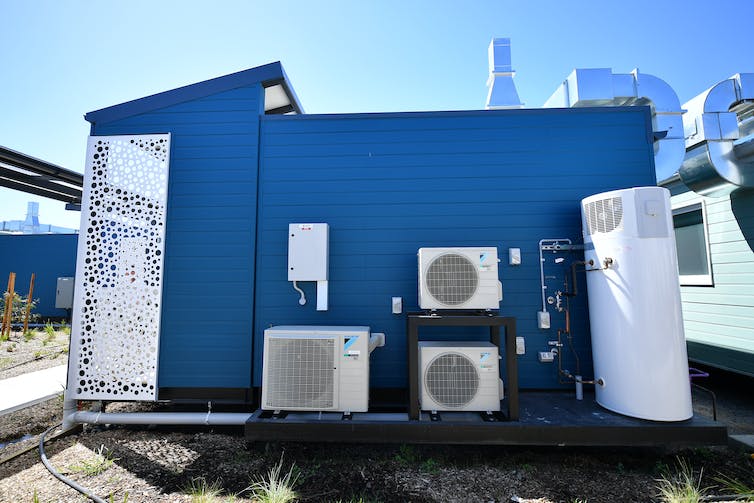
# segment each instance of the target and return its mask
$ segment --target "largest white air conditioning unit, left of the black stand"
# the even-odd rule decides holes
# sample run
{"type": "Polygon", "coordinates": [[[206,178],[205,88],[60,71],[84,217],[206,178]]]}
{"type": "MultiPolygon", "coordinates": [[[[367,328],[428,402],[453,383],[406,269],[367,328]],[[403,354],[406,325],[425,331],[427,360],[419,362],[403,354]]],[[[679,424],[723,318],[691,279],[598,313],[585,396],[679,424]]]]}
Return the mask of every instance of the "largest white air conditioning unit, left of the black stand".
{"type": "Polygon", "coordinates": [[[366,412],[369,327],[278,326],[264,331],[262,409],[366,412]]]}

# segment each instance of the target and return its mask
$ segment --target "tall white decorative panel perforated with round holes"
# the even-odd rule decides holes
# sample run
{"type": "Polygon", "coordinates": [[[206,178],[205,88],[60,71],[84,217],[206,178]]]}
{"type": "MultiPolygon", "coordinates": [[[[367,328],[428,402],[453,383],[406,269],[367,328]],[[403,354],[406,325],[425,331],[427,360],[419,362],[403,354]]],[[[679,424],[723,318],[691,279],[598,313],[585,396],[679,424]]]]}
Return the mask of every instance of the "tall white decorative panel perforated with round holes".
{"type": "Polygon", "coordinates": [[[170,135],[89,137],[68,398],[156,400],[170,135]]]}

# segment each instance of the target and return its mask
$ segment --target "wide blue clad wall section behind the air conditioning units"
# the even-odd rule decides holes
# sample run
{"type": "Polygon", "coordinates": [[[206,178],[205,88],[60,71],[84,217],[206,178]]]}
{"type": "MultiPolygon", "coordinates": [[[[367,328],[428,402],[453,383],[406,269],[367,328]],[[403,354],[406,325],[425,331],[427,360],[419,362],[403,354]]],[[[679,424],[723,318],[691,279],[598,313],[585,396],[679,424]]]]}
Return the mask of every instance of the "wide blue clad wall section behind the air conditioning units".
{"type": "MultiPolygon", "coordinates": [[[[390,300],[403,297],[404,312],[418,309],[417,250],[496,246],[501,314],[516,317],[526,338],[521,384],[556,387],[556,368],[536,360],[564,326],[562,316],[553,316],[550,331],[536,325],[538,242],[581,242],[583,197],[654,185],[650,132],[643,107],[263,117],[254,385],[265,328],[332,324],[385,332],[386,346],[372,354],[371,386],[405,387],[405,316],[391,314],[390,300]],[[287,230],[296,222],[330,225],[327,312],[315,311],[313,283],[301,284],[310,299],[301,307],[287,281],[287,230]],[[521,248],[521,266],[507,265],[509,247],[521,248]]],[[[585,304],[584,296],[573,303],[572,331],[589,375],[585,304]]]]}

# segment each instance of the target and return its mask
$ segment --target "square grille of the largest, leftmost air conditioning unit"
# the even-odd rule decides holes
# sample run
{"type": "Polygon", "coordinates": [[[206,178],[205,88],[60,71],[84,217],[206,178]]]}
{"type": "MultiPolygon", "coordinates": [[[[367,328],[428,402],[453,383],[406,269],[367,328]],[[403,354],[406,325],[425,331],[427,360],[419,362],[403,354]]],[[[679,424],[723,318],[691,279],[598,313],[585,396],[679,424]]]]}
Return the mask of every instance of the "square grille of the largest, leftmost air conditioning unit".
{"type": "Polygon", "coordinates": [[[270,338],[264,386],[267,407],[330,409],[334,339],[270,338]]]}

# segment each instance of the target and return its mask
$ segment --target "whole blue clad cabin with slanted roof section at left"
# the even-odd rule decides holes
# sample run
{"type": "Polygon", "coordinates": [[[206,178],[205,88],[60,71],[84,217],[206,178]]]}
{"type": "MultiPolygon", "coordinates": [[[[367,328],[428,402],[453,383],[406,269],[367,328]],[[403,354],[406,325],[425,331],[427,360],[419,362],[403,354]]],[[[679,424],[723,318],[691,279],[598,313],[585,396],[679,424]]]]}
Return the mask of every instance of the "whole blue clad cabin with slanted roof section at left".
{"type": "MultiPolygon", "coordinates": [[[[419,310],[417,250],[435,246],[498,249],[500,314],[518,320],[525,344],[519,384],[560,388],[557,368],[537,358],[565,324],[554,312],[552,328],[538,328],[539,242],[583,241],[582,198],[655,184],[646,107],[306,115],[279,63],[86,120],[94,136],[171,134],[160,399],[254,403],[273,325],[384,332],[372,396],[400,395],[405,313],[419,310]],[[327,311],[300,306],[287,281],[295,222],[329,224],[327,311]],[[520,265],[509,264],[511,248],[520,265]],[[393,297],[402,314],[393,314],[393,297]]],[[[565,266],[545,269],[548,288],[564,288],[565,266]]],[[[314,297],[312,283],[302,287],[314,297]]],[[[570,302],[574,349],[590,375],[585,295],[570,302]]],[[[438,339],[485,337],[433,330],[438,339]]]]}

